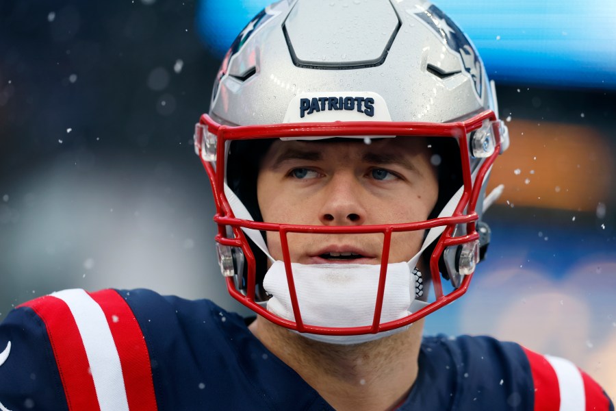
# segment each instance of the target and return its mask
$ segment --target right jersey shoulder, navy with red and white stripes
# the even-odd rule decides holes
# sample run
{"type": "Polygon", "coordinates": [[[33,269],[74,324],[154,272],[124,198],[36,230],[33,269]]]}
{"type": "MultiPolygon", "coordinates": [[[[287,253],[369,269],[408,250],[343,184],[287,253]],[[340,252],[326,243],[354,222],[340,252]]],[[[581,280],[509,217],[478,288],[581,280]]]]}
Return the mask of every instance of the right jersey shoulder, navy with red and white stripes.
{"type": "Polygon", "coordinates": [[[488,336],[428,337],[420,354],[420,377],[422,362],[439,373],[432,384],[451,398],[448,407],[453,409],[613,411],[602,388],[574,364],[517,343],[488,336]],[[496,404],[501,408],[494,408],[496,404]]]}

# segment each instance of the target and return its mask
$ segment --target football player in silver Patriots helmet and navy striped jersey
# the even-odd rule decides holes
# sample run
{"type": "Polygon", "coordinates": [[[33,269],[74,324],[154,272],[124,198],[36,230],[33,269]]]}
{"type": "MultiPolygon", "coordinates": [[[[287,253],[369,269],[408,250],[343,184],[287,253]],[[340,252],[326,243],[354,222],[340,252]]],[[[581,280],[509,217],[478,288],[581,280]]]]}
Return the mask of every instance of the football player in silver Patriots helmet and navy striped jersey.
{"type": "Polygon", "coordinates": [[[509,145],[470,40],[420,0],[280,1],[222,62],[194,147],[243,319],[64,290],[0,326],[0,409],[613,410],[571,362],[422,336],[489,245],[509,145]]]}

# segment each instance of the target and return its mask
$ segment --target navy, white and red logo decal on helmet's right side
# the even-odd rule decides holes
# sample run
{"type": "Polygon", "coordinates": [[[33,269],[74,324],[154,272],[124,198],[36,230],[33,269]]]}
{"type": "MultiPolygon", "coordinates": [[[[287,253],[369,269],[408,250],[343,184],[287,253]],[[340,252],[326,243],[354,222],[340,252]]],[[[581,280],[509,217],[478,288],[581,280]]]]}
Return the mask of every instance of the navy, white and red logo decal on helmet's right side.
{"type": "Polygon", "coordinates": [[[475,91],[481,99],[483,70],[473,45],[462,30],[435,5],[426,2],[423,5],[418,5],[417,8],[418,10],[413,14],[428,27],[431,27],[443,39],[445,45],[460,55],[464,69],[472,77],[475,91]]]}

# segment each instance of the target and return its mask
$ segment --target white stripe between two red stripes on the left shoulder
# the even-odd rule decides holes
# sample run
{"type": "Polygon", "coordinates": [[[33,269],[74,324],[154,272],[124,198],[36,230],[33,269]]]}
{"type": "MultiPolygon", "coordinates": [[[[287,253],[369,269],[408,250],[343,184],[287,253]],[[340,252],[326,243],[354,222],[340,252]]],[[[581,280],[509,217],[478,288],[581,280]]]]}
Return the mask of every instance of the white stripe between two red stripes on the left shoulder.
{"type": "Polygon", "coordinates": [[[86,347],[101,411],[128,411],[120,356],[101,306],[81,289],[51,295],[62,299],[75,318],[86,347]]]}

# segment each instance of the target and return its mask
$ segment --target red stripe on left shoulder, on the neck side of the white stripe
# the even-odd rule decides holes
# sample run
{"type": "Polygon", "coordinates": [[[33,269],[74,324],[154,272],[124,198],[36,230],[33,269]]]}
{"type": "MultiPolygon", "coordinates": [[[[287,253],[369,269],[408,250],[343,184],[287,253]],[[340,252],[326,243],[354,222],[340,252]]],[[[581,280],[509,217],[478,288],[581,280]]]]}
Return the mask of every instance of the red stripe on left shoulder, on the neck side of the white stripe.
{"type": "Polygon", "coordinates": [[[112,332],[131,411],[155,411],[150,356],[141,328],[128,303],[114,290],[90,293],[105,313],[112,332]]]}

